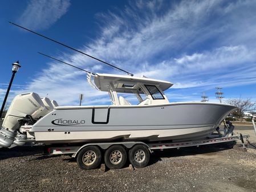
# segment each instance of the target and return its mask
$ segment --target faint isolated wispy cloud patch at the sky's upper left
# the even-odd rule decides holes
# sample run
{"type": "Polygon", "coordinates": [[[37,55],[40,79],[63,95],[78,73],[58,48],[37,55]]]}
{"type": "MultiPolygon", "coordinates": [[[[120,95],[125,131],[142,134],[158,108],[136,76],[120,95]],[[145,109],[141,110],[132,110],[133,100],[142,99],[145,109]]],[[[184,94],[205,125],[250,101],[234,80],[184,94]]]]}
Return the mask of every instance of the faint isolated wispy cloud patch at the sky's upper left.
{"type": "Polygon", "coordinates": [[[30,0],[18,22],[34,30],[48,28],[66,14],[69,6],[69,0],[30,0]]]}

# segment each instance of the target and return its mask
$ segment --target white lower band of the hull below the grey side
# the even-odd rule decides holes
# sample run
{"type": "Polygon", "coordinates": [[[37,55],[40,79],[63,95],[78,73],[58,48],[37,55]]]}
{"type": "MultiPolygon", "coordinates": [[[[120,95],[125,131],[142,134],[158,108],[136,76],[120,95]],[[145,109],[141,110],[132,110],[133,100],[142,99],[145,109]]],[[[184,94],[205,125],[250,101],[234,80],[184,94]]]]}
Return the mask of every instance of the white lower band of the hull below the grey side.
{"type": "Polygon", "coordinates": [[[63,137],[64,132],[36,132],[35,137],[37,141],[51,141],[51,143],[59,142],[89,142],[89,141],[160,141],[160,140],[183,140],[185,138],[192,138],[192,136],[201,138],[214,129],[209,126],[198,128],[184,128],[184,129],[158,129],[158,130],[119,130],[119,131],[86,131],[86,132],[72,132],[67,137],[63,137]],[[210,130],[210,131],[209,131],[210,130]],[[71,135],[72,134],[72,135],[71,135]],[[195,134],[195,135],[194,135],[195,134]],[[47,138],[47,139],[46,139],[47,138]],[[74,140],[72,140],[74,139],[74,140]]]}

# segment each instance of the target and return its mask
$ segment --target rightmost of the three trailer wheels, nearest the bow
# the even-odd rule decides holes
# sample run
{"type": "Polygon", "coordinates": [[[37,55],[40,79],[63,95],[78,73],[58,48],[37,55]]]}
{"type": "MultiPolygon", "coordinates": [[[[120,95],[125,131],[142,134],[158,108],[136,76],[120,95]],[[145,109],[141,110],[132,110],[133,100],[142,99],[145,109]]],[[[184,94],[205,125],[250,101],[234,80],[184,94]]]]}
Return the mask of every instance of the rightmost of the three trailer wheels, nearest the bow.
{"type": "Polygon", "coordinates": [[[135,145],[129,150],[129,161],[135,168],[144,168],[150,158],[149,150],[145,145],[135,145]]]}

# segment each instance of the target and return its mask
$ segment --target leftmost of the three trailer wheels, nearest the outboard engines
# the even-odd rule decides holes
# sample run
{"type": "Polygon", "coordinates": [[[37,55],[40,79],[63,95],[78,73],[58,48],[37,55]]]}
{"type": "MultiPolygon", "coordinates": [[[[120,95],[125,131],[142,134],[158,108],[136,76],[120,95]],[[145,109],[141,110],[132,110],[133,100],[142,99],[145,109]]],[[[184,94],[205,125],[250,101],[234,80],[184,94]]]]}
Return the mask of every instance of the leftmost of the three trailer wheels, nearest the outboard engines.
{"type": "Polygon", "coordinates": [[[100,165],[101,152],[97,146],[86,146],[80,150],[76,162],[81,169],[95,169],[100,165]]]}

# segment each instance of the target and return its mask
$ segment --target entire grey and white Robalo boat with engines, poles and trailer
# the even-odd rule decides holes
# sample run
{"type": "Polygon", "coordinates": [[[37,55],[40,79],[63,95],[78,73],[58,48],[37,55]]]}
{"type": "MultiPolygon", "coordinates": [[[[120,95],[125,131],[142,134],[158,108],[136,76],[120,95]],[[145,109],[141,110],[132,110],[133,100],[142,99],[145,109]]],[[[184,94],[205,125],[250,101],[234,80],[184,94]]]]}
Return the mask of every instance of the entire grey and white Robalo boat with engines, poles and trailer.
{"type": "MultiPolygon", "coordinates": [[[[10,22],[11,23],[11,22],[10,22]]],[[[208,138],[236,107],[229,104],[182,102],[169,103],[164,91],[168,81],[136,77],[54,39],[19,26],[80,54],[89,56],[128,75],[88,73],[92,87],[108,92],[112,105],[58,107],[56,101],[40,98],[36,93],[18,95],[12,101],[0,129],[0,146],[43,142],[51,146],[51,154],[72,154],[82,169],[95,169],[104,154],[109,169],[125,165],[127,156],[136,168],[149,162],[155,149],[194,146],[235,141],[230,137],[234,126],[227,125],[224,137],[208,138]],[[94,83],[92,81],[94,79],[94,83]],[[135,95],[138,104],[131,104],[125,95],[135,95]],[[159,143],[162,144],[159,144],[159,143]],[[57,146],[58,148],[52,148],[57,146]]],[[[40,53],[42,54],[42,53],[40,53]]],[[[47,56],[45,54],[42,54],[47,56]]],[[[220,132],[219,132],[220,133],[220,132]]]]}

